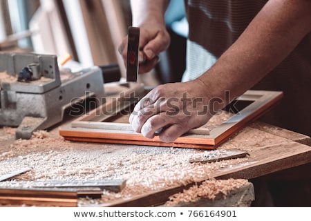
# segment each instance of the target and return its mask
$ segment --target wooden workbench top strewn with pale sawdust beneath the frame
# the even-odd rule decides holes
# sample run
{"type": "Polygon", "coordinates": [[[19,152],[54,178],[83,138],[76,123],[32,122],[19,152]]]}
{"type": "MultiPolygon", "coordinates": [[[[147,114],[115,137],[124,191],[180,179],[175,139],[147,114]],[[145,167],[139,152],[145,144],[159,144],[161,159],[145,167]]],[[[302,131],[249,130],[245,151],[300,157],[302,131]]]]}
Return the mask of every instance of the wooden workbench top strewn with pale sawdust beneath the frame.
{"type": "MultiPolygon", "coordinates": [[[[81,200],[79,206],[158,206],[205,180],[249,180],[311,162],[310,137],[261,122],[245,126],[217,148],[240,149],[249,156],[204,164],[190,163],[189,159],[206,150],[68,142],[59,136],[59,126],[62,124],[48,133],[39,131],[31,140],[17,141],[14,128],[0,128],[0,172],[31,166],[31,171],[15,180],[126,180],[122,193],[104,193],[101,200],[81,200]]],[[[249,205],[254,200],[252,188],[246,183],[227,189],[232,196],[227,199],[234,201],[237,193],[247,192],[248,196],[241,204],[234,201],[226,205],[249,205]]],[[[184,205],[223,205],[223,195],[217,193],[214,200],[184,205]]]]}

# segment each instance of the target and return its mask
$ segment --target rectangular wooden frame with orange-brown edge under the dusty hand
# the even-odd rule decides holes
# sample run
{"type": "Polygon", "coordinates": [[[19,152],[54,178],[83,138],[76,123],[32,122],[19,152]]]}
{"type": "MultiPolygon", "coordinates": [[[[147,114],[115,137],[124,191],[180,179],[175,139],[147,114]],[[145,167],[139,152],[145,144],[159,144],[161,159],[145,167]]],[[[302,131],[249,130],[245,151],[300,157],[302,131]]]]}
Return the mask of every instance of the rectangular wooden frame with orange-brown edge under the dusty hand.
{"type": "Polygon", "coordinates": [[[91,113],[79,117],[71,124],[59,128],[59,134],[66,140],[77,142],[215,149],[234,135],[234,133],[240,131],[245,125],[263,115],[265,111],[272,108],[283,97],[283,93],[279,91],[247,90],[246,93],[236,99],[237,102],[251,103],[243,110],[235,113],[225,122],[211,129],[211,131],[205,131],[204,128],[196,128],[178,137],[171,143],[161,142],[158,136],[149,139],[140,133],[135,133],[131,129],[130,124],[104,122],[111,117],[105,113],[119,113],[134,103],[133,97],[142,98],[145,94],[146,90],[144,90],[144,87],[136,84],[115,99],[117,102],[107,102],[91,111],[91,113]],[[124,102],[124,99],[127,99],[127,102],[124,102]],[[99,115],[98,113],[103,114],[99,115]]]}

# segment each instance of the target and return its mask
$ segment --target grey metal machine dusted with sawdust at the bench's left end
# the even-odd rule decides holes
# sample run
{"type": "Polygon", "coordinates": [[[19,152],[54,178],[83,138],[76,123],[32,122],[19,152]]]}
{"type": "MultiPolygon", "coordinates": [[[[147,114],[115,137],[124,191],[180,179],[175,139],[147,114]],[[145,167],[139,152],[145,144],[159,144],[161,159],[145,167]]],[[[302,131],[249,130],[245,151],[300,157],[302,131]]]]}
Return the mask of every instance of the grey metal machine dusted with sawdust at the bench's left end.
{"type": "Polygon", "coordinates": [[[16,139],[61,122],[66,108],[88,97],[104,97],[99,67],[60,72],[54,55],[0,53],[0,126],[18,126],[16,139]]]}

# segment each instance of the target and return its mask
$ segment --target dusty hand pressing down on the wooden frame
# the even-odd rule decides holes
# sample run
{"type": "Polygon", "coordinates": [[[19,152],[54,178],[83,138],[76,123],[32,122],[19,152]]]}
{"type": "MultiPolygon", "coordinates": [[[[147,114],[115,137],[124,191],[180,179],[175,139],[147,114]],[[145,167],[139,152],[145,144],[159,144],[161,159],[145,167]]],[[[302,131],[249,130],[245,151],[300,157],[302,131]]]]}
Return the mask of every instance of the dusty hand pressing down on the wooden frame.
{"type": "Polygon", "coordinates": [[[129,122],[144,137],[153,138],[159,133],[162,142],[173,142],[189,129],[205,124],[213,115],[207,106],[207,90],[196,80],[162,84],[138,102],[129,122]]]}

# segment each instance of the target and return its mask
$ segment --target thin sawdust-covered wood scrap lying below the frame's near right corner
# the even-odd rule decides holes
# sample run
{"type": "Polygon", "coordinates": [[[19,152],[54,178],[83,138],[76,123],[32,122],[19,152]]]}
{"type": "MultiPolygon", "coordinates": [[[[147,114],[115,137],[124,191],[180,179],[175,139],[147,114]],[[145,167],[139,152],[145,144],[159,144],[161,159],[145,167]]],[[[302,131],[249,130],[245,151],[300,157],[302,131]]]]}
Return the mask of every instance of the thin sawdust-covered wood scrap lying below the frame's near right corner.
{"type": "MultiPolygon", "coordinates": [[[[206,151],[207,152],[207,151],[206,151]]],[[[200,157],[192,157],[189,159],[190,163],[211,163],[218,162],[220,160],[231,160],[236,158],[243,158],[249,155],[246,151],[241,151],[238,149],[230,149],[230,150],[216,150],[209,151],[205,155],[200,157]]]]}

